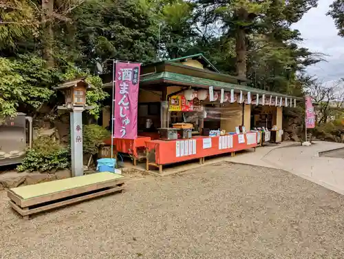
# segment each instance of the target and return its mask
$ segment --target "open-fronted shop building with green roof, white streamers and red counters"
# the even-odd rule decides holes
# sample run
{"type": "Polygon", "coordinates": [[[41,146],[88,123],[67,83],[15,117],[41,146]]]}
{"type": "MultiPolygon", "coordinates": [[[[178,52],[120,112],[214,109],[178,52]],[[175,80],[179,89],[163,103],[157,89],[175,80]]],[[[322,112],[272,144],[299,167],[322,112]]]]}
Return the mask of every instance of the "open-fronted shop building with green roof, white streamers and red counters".
{"type": "MultiPolygon", "coordinates": [[[[111,92],[112,75],[103,74],[103,80],[111,92]]],[[[147,171],[161,174],[166,165],[202,164],[213,156],[280,143],[283,107],[295,107],[301,99],[246,83],[220,73],[202,54],[142,65],[137,136],[113,135],[100,156],[117,161],[129,156],[134,166],[142,161],[147,171]]],[[[120,99],[114,93],[114,100],[120,99]]],[[[112,118],[116,127],[116,105],[103,110],[103,127],[111,127],[112,118]]]]}

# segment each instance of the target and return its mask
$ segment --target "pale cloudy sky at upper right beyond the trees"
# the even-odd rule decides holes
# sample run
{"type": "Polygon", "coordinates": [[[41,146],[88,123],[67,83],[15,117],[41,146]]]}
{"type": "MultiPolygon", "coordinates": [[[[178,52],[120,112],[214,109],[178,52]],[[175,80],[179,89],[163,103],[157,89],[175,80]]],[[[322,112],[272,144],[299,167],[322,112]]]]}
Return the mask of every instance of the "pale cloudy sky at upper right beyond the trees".
{"type": "Polygon", "coordinates": [[[312,52],[327,54],[327,62],[308,68],[308,74],[318,76],[323,82],[333,82],[344,77],[344,38],[337,35],[332,17],[326,16],[333,0],[319,0],[317,8],[308,11],[293,28],[304,39],[300,45],[312,52]]]}

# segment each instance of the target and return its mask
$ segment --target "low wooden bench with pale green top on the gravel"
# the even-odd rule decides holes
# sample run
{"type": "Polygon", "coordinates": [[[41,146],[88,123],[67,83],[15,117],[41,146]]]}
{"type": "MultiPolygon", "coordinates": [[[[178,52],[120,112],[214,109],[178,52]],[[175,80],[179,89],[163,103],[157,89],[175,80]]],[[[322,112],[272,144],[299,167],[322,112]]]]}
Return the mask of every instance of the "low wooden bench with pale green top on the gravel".
{"type": "Polygon", "coordinates": [[[24,218],[124,189],[120,174],[101,172],[8,190],[10,206],[24,218]]]}

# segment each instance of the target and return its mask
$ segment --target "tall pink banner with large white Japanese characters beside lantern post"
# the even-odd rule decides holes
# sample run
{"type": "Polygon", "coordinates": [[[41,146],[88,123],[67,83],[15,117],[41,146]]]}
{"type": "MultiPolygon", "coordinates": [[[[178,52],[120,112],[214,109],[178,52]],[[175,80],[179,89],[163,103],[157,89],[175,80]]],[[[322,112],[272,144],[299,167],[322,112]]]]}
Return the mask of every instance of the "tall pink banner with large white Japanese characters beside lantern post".
{"type": "Polygon", "coordinates": [[[140,63],[116,63],[114,138],[138,137],[140,63]]]}

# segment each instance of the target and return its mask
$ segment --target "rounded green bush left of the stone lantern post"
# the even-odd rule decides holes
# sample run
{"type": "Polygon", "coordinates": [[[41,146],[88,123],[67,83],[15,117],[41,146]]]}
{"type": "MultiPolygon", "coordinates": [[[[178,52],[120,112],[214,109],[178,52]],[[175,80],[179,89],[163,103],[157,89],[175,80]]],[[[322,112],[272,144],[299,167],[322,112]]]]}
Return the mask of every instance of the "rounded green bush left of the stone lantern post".
{"type": "Polygon", "coordinates": [[[32,149],[28,149],[23,163],[17,167],[19,172],[50,172],[52,169],[64,169],[70,165],[69,149],[61,147],[53,138],[39,136],[32,149]]]}

